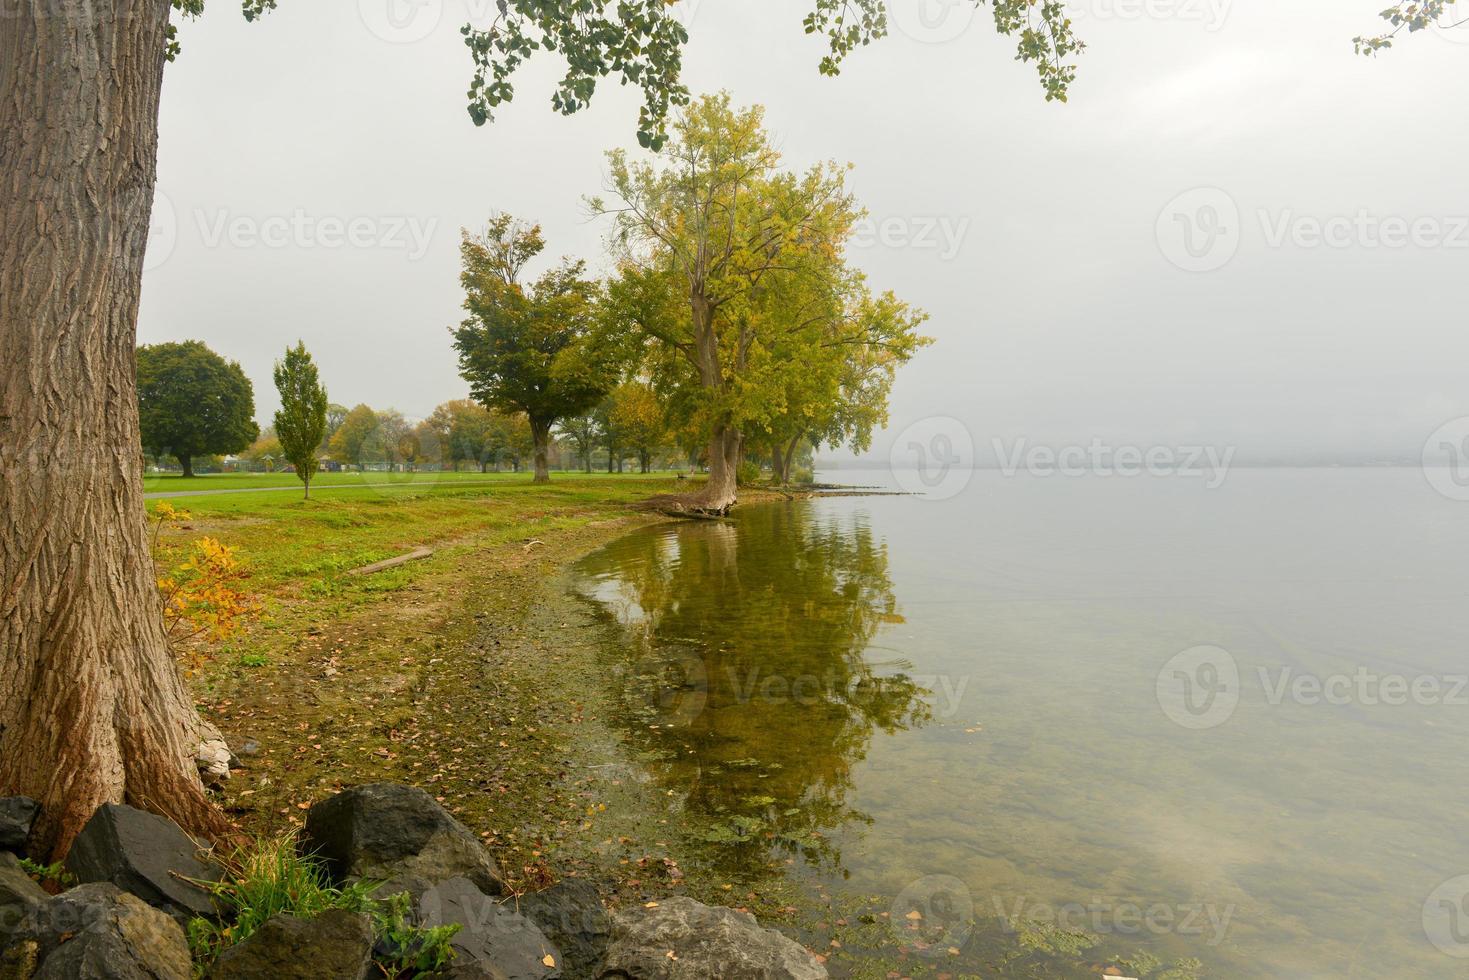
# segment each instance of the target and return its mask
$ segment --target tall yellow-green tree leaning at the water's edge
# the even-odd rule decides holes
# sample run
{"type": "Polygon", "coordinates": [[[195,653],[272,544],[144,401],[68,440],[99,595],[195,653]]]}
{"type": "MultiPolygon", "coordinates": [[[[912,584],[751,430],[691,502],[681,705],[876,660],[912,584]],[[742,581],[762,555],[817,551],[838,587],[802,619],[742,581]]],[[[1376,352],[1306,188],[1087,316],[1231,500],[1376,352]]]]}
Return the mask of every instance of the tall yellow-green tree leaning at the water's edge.
{"type": "Polygon", "coordinates": [[[680,408],[708,433],[710,476],[690,507],[714,514],[734,504],[746,432],[774,441],[779,429],[789,444],[830,428],[843,348],[883,348],[900,363],[921,342],[923,316],[873,300],[845,263],[861,216],[845,167],[782,170],[762,115],[727,94],[699,98],[674,123],[665,162],[610,153],[616,198],[592,201],[620,253],[608,319],[674,354],[665,376],[698,392],[680,408]]]}

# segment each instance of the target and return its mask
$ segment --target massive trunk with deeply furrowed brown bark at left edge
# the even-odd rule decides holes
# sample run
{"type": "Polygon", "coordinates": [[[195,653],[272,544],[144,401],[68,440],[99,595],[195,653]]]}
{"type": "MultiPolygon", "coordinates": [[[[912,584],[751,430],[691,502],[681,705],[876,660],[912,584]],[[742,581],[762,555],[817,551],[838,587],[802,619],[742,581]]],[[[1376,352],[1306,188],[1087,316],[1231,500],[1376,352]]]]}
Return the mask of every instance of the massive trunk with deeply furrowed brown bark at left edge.
{"type": "Polygon", "coordinates": [[[0,29],[0,795],[60,857],[103,802],[217,835],[163,635],[135,326],[167,0],[19,0],[0,29]]]}

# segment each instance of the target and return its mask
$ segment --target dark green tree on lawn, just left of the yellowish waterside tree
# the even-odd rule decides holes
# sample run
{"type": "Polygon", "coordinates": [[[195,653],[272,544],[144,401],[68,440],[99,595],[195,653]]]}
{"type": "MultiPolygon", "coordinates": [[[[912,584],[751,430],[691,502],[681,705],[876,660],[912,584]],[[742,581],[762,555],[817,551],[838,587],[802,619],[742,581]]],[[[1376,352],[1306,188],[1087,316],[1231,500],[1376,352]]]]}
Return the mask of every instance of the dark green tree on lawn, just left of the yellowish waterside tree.
{"type": "Polygon", "coordinates": [[[586,263],[563,259],[521,282],[544,248],[539,225],[510,215],[492,217],[480,237],[466,232],[460,282],[469,316],[451,331],[474,400],[523,411],[530,422],[536,483],[551,479],[552,426],[588,411],[617,379],[616,357],[593,329],[601,289],[586,278],[586,263]]]}

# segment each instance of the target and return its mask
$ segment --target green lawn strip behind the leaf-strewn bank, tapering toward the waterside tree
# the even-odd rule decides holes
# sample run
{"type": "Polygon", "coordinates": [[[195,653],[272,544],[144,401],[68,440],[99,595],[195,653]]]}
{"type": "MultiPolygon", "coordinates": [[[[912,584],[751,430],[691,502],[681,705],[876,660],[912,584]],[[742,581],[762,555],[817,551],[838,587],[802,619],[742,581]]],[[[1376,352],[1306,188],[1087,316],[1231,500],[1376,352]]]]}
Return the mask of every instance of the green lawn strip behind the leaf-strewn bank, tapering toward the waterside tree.
{"type": "Polygon", "coordinates": [[[551,483],[536,485],[524,475],[504,475],[492,483],[342,486],[311,500],[303,500],[295,488],[173,498],[148,501],[148,511],[167,502],[188,513],[187,520],[170,523],[159,535],[162,570],[179,566],[192,542],[204,536],[235,550],[247,573],[244,589],[259,604],[259,613],[242,635],[198,645],[194,652],[239,670],[275,663],[306,633],[329,627],[358,608],[395,601],[425,577],[444,576],[463,561],[482,566],[486,550],[519,555],[521,548],[533,547],[533,539],[626,516],[629,504],[689,485],[635,475],[555,475],[551,483]],[[419,547],[433,554],[376,574],[350,574],[419,547]]]}

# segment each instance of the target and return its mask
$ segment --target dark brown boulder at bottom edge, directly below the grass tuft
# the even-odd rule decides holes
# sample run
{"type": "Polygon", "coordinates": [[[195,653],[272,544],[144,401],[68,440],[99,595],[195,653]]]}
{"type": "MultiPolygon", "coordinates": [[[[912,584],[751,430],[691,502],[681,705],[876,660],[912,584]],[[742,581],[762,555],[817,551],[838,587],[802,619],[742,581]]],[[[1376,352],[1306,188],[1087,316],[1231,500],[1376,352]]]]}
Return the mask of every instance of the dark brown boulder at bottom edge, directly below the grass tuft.
{"type": "Polygon", "coordinates": [[[214,980],[357,980],[372,962],[372,923],[333,908],[314,918],[272,915],[219,954],[214,980]]]}

